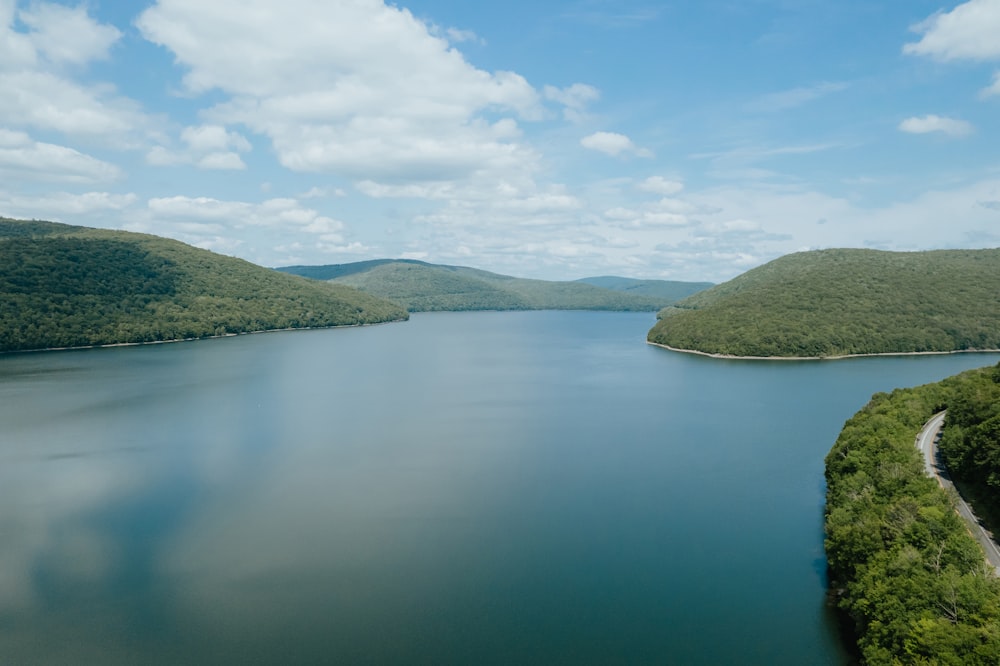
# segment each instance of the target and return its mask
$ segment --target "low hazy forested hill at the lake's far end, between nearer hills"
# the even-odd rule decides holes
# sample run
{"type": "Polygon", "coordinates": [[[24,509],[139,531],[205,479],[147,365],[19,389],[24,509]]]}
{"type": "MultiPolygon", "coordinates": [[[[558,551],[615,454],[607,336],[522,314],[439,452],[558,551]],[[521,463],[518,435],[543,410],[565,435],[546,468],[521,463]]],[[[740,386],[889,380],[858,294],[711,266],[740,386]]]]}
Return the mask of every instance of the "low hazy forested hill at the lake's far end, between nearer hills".
{"type": "MultiPolygon", "coordinates": [[[[286,266],[279,271],[357,287],[405,306],[431,310],[630,310],[674,302],[659,294],[630,293],[584,282],[552,282],[499,275],[464,266],[379,259],[331,266],[286,266]]],[[[690,292],[689,292],[690,293],[690,292]]]]}

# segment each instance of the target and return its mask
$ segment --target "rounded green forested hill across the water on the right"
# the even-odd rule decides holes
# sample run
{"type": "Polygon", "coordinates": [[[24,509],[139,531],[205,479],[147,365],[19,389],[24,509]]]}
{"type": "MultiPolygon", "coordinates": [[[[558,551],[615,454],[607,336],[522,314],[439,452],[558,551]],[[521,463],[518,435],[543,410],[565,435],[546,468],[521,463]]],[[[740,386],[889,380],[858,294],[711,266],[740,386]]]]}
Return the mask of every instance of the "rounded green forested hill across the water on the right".
{"type": "Polygon", "coordinates": [[[819,250],[660,313],[650,342],[734,356],[1000,348],[1000,250],[819,250]]]}

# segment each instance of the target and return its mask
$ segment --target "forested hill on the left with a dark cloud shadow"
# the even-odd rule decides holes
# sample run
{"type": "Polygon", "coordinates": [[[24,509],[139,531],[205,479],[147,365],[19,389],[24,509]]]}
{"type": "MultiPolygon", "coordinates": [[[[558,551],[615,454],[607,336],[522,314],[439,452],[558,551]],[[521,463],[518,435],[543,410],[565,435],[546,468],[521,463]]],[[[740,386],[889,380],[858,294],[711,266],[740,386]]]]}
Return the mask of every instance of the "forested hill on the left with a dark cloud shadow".
{"type": "Polygon", "coordinates": [[[395,304],[178,241],[0,218],[0,351],[405,319],[395,304]]]}

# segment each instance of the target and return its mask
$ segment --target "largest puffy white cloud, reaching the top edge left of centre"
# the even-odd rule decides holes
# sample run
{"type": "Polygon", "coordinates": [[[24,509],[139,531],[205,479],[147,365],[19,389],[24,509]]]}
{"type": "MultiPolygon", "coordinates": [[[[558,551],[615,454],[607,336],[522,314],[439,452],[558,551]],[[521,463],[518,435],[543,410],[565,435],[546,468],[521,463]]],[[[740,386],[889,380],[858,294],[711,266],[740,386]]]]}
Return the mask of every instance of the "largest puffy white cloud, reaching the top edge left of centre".
{"type": "Polygon", "coordinates": [[[189,92],[228,96],[207,119],[267,136],[289,169],[398,183],[536,168],[511,123],[485,117],[541,118],[538,92],[473,67],[406,9],[161,0],[136,25],[186,68],[189,92]]]}

